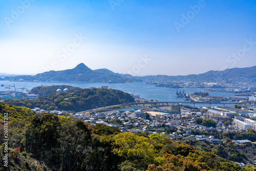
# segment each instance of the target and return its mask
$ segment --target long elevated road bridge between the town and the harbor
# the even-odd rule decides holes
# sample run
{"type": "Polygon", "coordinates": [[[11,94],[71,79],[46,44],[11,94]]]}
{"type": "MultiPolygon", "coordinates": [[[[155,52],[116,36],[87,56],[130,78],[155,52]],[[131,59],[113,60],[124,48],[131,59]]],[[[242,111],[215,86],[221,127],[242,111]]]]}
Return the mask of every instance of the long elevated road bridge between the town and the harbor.
{"type": "MultiPolygon", "coordinates": [[[[193,102],[188,102],[188,101],[148,101],[148,102],[138,102],[138,103],[127,103],[127,104],[123,104],[123,105],[135,105],[135,104],[194,104],[194,107],[196,104],[209,104],[209,106],[211,104],[222,104],[223,106],[225,106],[225,104],[244,104],[245,102],[199,102],[199,101],[193,101],[193,102]]],[[[251,102],[246,102],[246,103],[251,103],[251,102]]]]}

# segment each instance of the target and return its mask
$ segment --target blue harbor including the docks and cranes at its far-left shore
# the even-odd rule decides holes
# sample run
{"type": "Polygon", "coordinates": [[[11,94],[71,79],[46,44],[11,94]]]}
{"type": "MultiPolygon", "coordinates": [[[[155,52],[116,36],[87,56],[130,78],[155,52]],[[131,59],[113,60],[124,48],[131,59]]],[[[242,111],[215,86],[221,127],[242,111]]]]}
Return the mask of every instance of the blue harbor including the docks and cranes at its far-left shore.
{"type": "MultiPolygon", "coordinates": [[[[12,81],[0,81],[0,85],[13,85],[12,81]]],[[[16,96],[14,87],[11,87],[11,91],[9,89],[6,89],[6,87],[0,86],[0,92],[2,92],[1,97],[2,99],[6,98],[36,98],[35,95],[31,94],[27,90],[32,90],[34,87],[38,86],[52,86],[52,85],[61,85],[66,84],[73,87],[79,87],[79,88],[90,88],[90,87],[101,87],[101,86],[108,86],[109,89],[117,89],[121,90],[123,92],[128,92],[131,94],[137,94],[142,98],[150,99],[150,100],[158,100],[158,101],[180,101],[182,102],[193,102],[195,99],[191,99],[191,94],[195,92],[206,92],[202,88],[179,88],[179,89],[165,89],[163,87],[156,87],[156,84],[146,84],[145,82],[132,82],[132,83],[98,83],[98,82],[15,82],[15,87],[17,88],[26,88],[24,90],[16,89],[16,96]],[[186,96],[177,97],[176,93],[181,91],[181,93],[186,94],[186,96]],[[12,94],[10,93],[12,92],[12,94]],[[20,93],[23,92],[23,93],[20,93]],[[24,95],[26,92],[27,95],[24,95]],[[6,94],[9,95],[6,96],[6,94]],[[23,94],[20,96],[20,94],[23,94]],[[29,97],[28,97],[29,96],[29,97]]],[[[219,98],[221,101],[229,102],[235,102],[240,101],[239,99],[232,99],[230,97],[236,96],[234,93],[226,93],[226,92],[209,92],[209,97],[212,96],[212,99],[219,98]],[[221,97],[220,97],[221,96],[221,97]],[[226,98],[223,98],[226,97],[226,98]]],[[[244,96],[240,96],[244,97],[244,96]]],[[[204,106],[203,103],[198,103],[198,106],[204,106]]],[[[230,104],[233,105],[233,104],[230,104]]]]}

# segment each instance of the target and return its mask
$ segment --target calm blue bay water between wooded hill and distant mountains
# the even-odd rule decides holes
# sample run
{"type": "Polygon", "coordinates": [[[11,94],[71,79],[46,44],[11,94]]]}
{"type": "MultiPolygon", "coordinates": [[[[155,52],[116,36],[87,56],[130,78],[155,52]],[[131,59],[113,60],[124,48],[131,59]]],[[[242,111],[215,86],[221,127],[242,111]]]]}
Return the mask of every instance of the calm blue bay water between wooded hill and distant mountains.
{"type": "MultiPolygon", "coordinates": [[[[26,90],[31,90],[34,87],[38,86],[52,86],[52,85],[69,85],[79,88],[89,88],[89,87],[96,87],[99,88],[100,86],[109,86],[110,89],[117,89],[123,92],[137,94],[141,98],[150,99],[150,100],[158,100],[158,101],[180,101],[184,102],[185,100],[181,97],[176,97],[176,91],[184,91],[186,94],[191,94],[195,92],[206,92],[204,89],[199,88],[181,88],[181,89],[169,89],[165,87],[156,87],[152,84],[146,84],[145,82],[135,82],[135,83],[84,83],[84,82],[10,82],[10,81],[0,81],[0,85],[4,84],[5,86],[14,86],[15,88],[25,88],[26,90]]],[[[0,91],[6,91],[5,87],[0,87],[0,91]]],[[[11,87],[11,90],[14,90],[11,87]]],[[[22,91],[21,89],[17,89],[17,91],[22,91]]],[[[235,94],[233,93],[222,93],[222,92],[208,92],[209,95],[216,95],[216,96],[226,96],[231,97],[235,94]]],[[[231,104],[233,105],[233,104],[231,104]]],[[[207,104],[202,104],[201,106],[208,106],[207,104]]]]}

